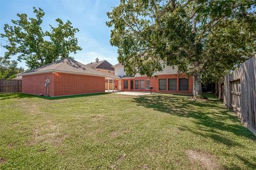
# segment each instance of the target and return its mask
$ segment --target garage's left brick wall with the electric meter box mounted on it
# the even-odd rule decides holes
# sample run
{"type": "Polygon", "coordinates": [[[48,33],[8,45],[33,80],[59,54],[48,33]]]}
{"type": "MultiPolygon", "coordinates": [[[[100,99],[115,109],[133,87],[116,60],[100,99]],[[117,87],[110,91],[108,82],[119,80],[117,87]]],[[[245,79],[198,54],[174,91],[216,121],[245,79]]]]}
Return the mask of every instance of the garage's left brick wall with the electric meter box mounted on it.
{"type": "Polygon", "coordinates": [[[49,95],[54,95],[54,77],[53,73],[23,75],[22,92],[25,94],[47,95],[45,80],[50,79],[49,95]]]}

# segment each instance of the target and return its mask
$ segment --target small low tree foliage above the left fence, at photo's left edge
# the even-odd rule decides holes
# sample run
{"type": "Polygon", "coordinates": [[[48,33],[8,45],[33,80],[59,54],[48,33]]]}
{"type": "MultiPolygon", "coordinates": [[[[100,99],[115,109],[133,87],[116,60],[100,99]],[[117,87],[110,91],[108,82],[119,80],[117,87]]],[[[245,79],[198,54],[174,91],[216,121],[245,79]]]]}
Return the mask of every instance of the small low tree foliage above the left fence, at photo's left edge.
{"type": "Polygon", "coordinates": [[[13,60],[6,60],[4,57],[0,57],[0,79],[13,79],[16,74],[24,72],[22,67],[17,67],[18,62],[13,60]]]}

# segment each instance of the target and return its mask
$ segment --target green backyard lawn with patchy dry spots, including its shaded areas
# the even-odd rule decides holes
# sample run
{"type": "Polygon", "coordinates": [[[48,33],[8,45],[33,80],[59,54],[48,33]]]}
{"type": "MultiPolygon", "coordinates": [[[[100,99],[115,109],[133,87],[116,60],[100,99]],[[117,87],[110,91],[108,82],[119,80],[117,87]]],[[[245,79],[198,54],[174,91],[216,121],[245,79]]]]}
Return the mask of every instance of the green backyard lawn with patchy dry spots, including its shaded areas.
{"type": "Polygon", "coordinates": [[[0,94],[0,169],[254,169],[256,137],[207,97],[0,94]]]}

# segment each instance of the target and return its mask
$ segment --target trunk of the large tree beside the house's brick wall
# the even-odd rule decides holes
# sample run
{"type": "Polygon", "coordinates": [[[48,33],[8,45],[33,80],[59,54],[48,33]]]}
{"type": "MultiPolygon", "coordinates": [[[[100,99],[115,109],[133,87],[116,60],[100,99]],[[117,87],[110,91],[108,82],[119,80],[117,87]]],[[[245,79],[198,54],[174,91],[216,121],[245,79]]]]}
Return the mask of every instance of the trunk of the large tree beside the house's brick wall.
{"type": "Polygon", "coordinates": [[[202,95],[202,83],[200,72],[197,70],[198,62],[194,63],[194,68],[196,69],[193,76],[193,98],[198,98],[202,95]]]}

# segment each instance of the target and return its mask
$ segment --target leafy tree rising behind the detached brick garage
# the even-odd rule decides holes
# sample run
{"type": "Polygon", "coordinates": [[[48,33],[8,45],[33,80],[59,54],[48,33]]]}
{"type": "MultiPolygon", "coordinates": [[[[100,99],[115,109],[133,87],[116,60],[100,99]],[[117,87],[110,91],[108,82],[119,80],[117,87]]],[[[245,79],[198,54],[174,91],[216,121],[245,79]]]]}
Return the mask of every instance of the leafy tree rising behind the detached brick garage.
{"type": "Polygon", "coordinates": [[[74,28],[70,21],[63,23],[61,19],[56,19],[57,27],[50,25],[50,31],[43,31],[44,11],[36,9],[36,18],[28,18],[27,14],[17,14],[18,20],[12,20],[13,26],[4,25],[2,38],[7,39],[4,47],[7,49],[5,58],[18,55],[18,61],[26,61],[29,69],[42,66],[60,58],[69,57],[70,53],[76,53],[82,48],[77,45],[75,33],[79,30],[74,28]]]}

